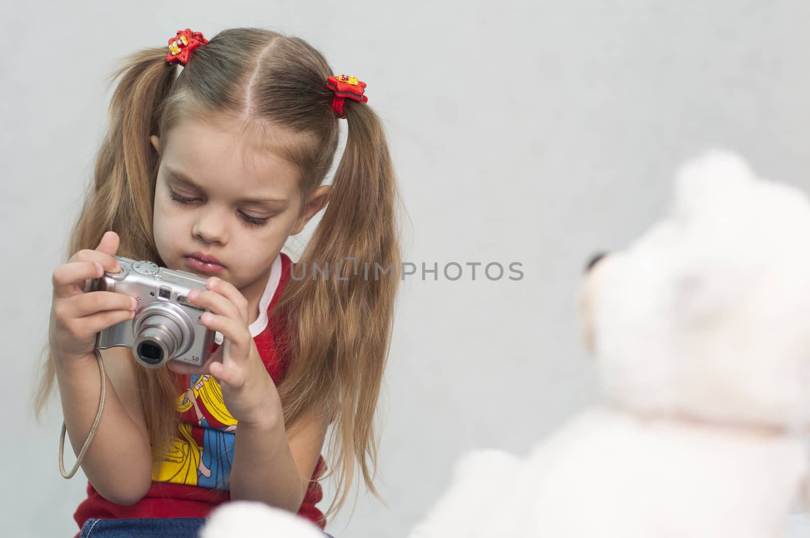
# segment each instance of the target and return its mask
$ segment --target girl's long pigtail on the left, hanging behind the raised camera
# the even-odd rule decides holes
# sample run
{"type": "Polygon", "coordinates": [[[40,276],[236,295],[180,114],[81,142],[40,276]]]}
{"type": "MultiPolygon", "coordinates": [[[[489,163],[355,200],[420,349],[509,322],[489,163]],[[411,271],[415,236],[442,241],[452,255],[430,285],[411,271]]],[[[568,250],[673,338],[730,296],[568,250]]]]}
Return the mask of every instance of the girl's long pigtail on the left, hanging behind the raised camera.
{"type": "MultiPolygon", "coordinates": [[[[70,233],[66,260],[79,250],[95,249],[104,232],[113,230],[121,239],[117,254],[162,265],[151,233],[159,161],[149,135],[158,132],[160,104],[170,92],[175,72],[166,62],[163,47],[130,55],[109,76],[108,83],[119,77],[121,80],[109,105],[109,129],[96,155],[92,187],[85,193],[82,211],[70,233]]],[[[46,357],[33,402],[37,420],[55,380],[47,343],[43,353],[46,357]]],[[[144,406],[147,425],[157,440],[165,442],[174,428],[165,412],[174,405],[172,378],[166,369],[139,368],[139,380],[145,393],[156,398],[156,405],[144,406]]]]}

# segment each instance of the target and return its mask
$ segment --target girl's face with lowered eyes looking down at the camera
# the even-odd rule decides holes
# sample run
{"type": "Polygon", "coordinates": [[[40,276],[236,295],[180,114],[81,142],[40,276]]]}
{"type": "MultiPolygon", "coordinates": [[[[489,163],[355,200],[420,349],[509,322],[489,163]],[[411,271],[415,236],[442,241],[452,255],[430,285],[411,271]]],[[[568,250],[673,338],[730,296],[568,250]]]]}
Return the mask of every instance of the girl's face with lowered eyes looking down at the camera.
{"type": "Polygon", "coordinates": [[[151,136],[161,151],[155,242],[166,267],[216,275],[258,305],[271,263],[287,238],[322,207],[301,212],[298,170],[227,123],[184,120],[151,136]],[[201,265],[195,257],[210,256],[201,265]]]}

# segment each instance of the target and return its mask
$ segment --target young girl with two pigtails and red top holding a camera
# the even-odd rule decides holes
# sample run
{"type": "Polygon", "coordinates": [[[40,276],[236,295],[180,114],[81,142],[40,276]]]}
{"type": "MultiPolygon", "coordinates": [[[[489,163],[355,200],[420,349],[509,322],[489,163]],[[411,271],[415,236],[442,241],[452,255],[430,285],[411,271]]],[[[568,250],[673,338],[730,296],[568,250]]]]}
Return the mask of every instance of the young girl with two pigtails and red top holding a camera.
{"type": "Polygon", "coordinates": [[[130,348],[104,351],[106,401],[76,523],[83,536],[195,536],[216,505],[245,499],[324,528],[314,505],[330,424],[338,478],[326,515],[343,506],[356,465],[379,497],[373,416],[401,263],[399,194],[365,84],[334,76],[305,41],[258,28],[210,41],[177,32],[119,76],[73,254],[53,271],[36,414],[55,378],[79,454],[100,401],[96,332],[138,310],[125,293],[88,291],[120,270],[113,254],[206,277],[189,300],[209,310],[201,322],[223,345],[202,367],[147,369],[130,348]],[[341,118],[346,148],[321,185],[341,118]],[[324,207],[292,263],[285,241],[324,207]]]}

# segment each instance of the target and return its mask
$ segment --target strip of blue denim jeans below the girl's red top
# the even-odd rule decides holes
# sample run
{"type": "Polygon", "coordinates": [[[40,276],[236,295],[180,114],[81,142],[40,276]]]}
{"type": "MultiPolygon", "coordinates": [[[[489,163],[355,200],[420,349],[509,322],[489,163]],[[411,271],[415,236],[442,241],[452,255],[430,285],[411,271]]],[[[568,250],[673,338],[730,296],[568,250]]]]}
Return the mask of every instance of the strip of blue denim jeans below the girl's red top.
{"type": "MultiPolygon", "coordinates": [[[[95,519],[82,525],[80,538],[197,538],[207,518],[95,519]]],[[[333,536],[323,533],[329,538],[333,536]]]]}

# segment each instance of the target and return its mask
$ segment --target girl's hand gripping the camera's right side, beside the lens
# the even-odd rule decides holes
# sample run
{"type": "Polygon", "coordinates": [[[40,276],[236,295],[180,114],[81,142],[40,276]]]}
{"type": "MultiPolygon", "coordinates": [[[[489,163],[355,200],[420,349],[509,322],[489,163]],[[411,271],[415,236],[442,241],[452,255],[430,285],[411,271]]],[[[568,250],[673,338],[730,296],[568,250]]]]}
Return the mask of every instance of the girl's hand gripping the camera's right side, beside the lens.
{"type": "Polygon", "coordinates": [[[205,290],[193,290],[194,305],[210,310],[201,322],[220,331],[224,342],[202,366],[168,361],[178,374],[211,374],[220,383],[225,407],[245,425],[277,424],[283,421],[281,400],[267,373],[256,342],[248,329],[248,301],[230,282],[212,276],[205,290]]]}

